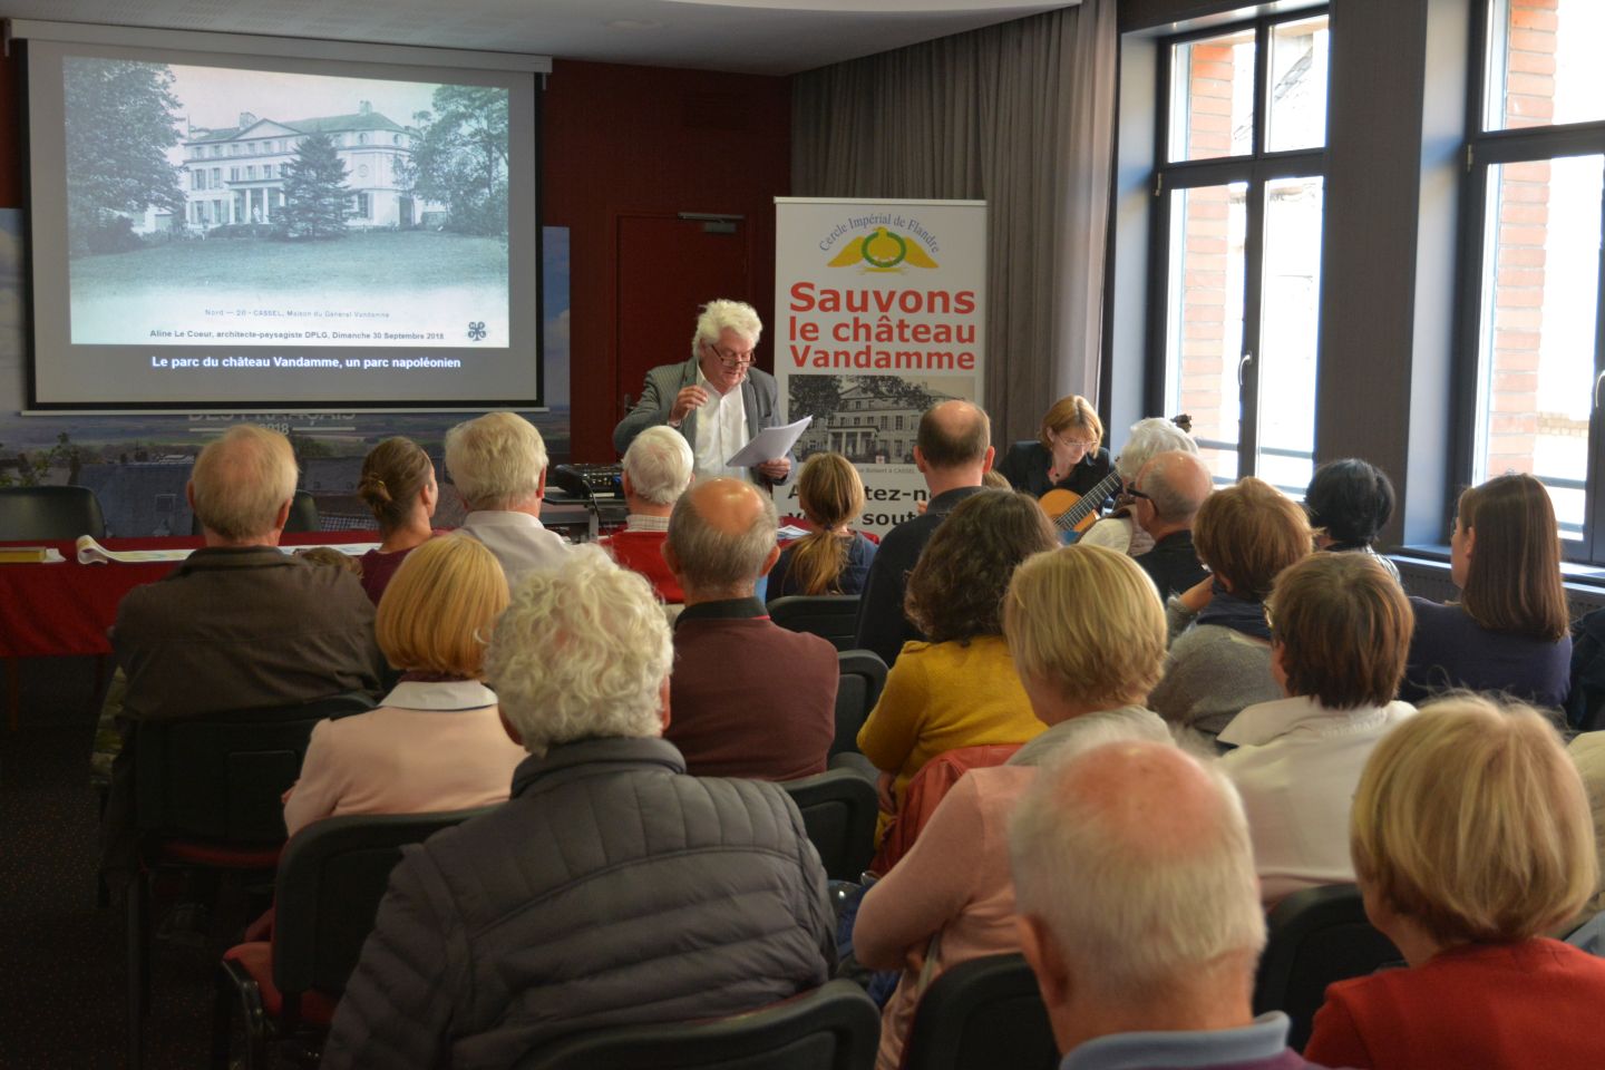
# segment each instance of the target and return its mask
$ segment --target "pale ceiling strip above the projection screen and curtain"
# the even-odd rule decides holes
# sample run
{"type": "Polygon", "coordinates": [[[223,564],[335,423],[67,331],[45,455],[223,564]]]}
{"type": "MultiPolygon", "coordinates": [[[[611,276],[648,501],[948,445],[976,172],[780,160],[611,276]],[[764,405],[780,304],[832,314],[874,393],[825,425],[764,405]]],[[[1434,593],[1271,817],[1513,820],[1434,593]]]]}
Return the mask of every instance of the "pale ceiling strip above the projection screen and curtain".
{"type": "Polygon", "coordinates": [[[0,16],[796,74],[1080,0],[0,0],[0,16]]]}

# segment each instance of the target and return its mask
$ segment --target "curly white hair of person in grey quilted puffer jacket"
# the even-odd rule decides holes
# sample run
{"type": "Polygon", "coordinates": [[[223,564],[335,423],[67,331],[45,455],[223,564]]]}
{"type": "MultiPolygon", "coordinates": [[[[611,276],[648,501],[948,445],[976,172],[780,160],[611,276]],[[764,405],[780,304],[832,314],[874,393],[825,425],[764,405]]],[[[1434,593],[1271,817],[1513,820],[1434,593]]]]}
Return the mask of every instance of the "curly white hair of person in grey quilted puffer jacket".
{"type": "Polygon", "coordinates": [[[485,679],[530,754],[586,738],[663,735],[674,643],[645,578],[600,547],[528,573],[485,651],[485,679]]]}

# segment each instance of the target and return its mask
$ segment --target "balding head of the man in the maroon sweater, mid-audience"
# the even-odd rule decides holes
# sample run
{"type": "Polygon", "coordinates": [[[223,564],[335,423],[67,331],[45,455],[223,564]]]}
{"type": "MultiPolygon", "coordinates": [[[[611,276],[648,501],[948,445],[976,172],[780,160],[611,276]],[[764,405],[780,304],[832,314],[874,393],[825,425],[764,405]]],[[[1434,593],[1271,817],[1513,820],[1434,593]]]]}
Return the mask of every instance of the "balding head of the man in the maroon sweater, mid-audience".
{"type": "Polygon", "coordinates": [[[775,504],[743,480],[692,484],[669,515],[663,558],[685,590],[685,603],[750,598],[774,566],[775,504]]]}

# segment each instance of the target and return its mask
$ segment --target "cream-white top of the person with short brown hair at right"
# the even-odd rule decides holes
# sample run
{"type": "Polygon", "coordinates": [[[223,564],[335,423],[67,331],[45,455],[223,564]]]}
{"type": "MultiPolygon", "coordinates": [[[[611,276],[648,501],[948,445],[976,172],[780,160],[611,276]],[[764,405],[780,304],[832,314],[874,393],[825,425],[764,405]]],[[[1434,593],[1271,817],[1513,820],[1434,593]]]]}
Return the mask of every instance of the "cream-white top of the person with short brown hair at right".
{"type": "Polygon", "coordinates": [[[1321,884],[1351,884],[1348,810],[1372,748],[1412,715],[1409,703],[1326,709],[1308,696],[1258,703],[1220,733],[1237,744],[1221,768],[1249,815],[1260,898],[1276,903],[1321,884]]]}

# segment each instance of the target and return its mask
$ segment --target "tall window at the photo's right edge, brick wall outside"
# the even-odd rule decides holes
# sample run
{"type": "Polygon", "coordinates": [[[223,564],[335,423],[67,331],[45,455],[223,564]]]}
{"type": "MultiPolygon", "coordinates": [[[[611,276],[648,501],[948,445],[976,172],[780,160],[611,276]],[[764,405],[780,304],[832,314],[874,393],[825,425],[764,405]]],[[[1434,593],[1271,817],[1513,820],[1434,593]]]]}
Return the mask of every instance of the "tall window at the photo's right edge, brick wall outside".
{"type": "Polygon", "coordinates": [[[1538,476],[1566,557],[1605,561],[1605,5],[1483,0],[1477,29],[1456,475],[1538,476]]]}

